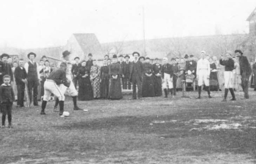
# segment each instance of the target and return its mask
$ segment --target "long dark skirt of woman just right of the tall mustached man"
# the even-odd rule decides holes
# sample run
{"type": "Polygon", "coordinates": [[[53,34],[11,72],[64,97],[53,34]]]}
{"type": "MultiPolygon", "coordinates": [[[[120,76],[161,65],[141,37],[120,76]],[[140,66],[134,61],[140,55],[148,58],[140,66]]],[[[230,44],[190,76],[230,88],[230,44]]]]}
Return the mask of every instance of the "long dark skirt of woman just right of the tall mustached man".
{"type": "Polygon", "coordinates": [[[142,97],[154,97],[154,79],[153,77],[144,76],[142,80],[142,97]]]}

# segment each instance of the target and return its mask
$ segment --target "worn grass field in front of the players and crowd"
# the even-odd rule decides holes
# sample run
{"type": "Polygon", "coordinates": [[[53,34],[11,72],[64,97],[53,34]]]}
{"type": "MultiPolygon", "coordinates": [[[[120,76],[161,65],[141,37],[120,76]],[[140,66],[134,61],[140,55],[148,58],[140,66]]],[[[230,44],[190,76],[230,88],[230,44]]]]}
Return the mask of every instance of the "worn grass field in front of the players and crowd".
{"type": "MultiPolygon", "coordinates": [[[[256,155],[256,92],[249,100],[143,98],[78,102],[89,112],[70,117],[40,107],[13,107],[12,129],[0,129],[0,163],[12,164],[248,164],[256,155]]],[[[229,95],[230,96],[230,95],[229,95]]],[[[240,97],[240,98],[239,98],[240,97]]]]}

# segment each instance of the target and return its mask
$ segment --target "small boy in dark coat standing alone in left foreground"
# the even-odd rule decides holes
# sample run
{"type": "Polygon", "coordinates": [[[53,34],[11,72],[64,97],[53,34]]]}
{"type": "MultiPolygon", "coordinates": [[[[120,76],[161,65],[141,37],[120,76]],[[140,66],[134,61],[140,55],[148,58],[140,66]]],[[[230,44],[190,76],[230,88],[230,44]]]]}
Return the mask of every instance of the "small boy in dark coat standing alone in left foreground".
{"type": "Polygon", "coordinates": [[[4,75],[4,83],[0,86],[0,103],[2,108],[2,126],[5,128],[5,118],[8,115],[8,127],[12,128],[12,104],[15,101],[14,92],[10,84],[11,77],[9,75],[4,75]]]}

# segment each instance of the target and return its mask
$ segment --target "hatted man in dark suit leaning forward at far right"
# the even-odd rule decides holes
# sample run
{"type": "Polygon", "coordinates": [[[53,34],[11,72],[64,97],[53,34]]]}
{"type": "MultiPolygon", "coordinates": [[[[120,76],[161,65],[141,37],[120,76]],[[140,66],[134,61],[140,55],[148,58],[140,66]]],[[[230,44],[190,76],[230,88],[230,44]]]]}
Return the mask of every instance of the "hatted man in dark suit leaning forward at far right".
{"type": "Polygon", "coordinates": [[[243,56],[243,53],[241,50],[236,50],[235,54],[237,57],[239,57],[240,74],[242,76],[241,80],[242,80],[242,88],[244,92],[244,98],[242,99],[249,99],[248,82],[249,82],[249,77],[251,75],[251,66],[249,64],[247,57],[243,56]]]}

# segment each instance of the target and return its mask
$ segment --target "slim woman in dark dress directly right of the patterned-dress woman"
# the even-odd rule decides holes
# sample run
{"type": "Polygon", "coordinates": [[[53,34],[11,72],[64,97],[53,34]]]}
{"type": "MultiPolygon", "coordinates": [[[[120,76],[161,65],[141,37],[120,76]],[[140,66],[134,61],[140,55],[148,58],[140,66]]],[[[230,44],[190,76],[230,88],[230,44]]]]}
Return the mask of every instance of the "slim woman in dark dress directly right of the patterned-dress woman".
{"type": "Polygon", "coordinates": [[[107,65],[107,60],[103,61],[103,66],[100,68],[100,94],[101,98],[108,98],[109,90],[109,65],[107,65]]]}

